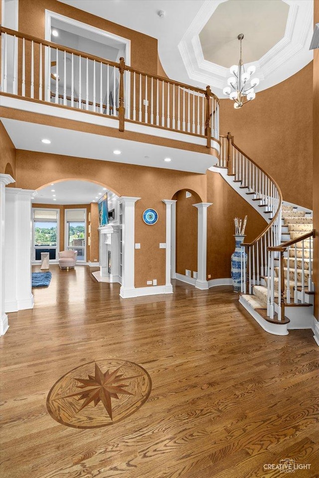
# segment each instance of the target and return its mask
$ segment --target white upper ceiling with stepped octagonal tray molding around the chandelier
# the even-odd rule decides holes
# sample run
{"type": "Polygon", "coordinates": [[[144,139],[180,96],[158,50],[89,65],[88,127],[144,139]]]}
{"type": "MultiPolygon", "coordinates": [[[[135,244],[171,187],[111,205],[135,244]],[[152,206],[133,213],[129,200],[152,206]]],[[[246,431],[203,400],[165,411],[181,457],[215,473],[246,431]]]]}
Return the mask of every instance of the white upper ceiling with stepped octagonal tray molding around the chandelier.
{"type": "MultiPolygon", "coordinates": [[[[227,0],[60,1],[158,38],[160,60],[169,78],[201,87],[209,84],[219,97],[223,97],[222,89],[227,84],[229,69],[204,59],[199,33],[218,5],[227,0]],[[159,10],[165,11],[164,17],[160,18],[159,10]]],[[[242,1],[236,0],[236,3],[242,1]]],[[[261,82],[257,91],[289,78],[313,58],[313,52],[309,51],[313,33],[313,0],[283,1],[290,7],[285,35],[258,59],[256,76],[261,79],[261,82]]],[[[262,2],[272,3],[266,0],[262,2]]],[[[260,0],[249,0],[252,7],[248,14],[242,17],[238,16],[236,9],[231,10],[233,17],[228,20],[234,25],[234,31],[231,33],[235,38],[238,33],[245,33],[239,31],[242,22],[254,21],[249,15],[255,11],[255,3],[260,4],[260,0]]],[[[269,36],[272,35],[273,23],[274,21],[270,22],[269,35],[265,36],[268,47],[270,47],[269,36]]],[[[224,24],[228,24],[226,19],[224,24]]],[[[246,43],[245,47],[249,45],[246,43]]],[[[264,51],[266,47],[267,45],[261,45],[260,51],[264,51]]]]}

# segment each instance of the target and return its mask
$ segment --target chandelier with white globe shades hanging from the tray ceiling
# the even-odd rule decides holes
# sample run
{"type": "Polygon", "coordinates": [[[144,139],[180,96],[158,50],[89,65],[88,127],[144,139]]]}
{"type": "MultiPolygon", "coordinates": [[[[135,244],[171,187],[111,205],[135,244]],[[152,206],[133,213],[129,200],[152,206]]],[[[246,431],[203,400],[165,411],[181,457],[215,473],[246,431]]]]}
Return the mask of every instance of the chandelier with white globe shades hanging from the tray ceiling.
{"type": "Polygon", "coordinates": [[[223,94],[229,95],[230,100],[235,101],[234,108],[236,110],[241,108],[248,101],[254,100],[256,97],[254,87],[259,85],[258,78],[253,78],[250,81],[250,86],[247,85],[251,75],[255,73],[256,67],[251,65],[247,68],[247,71],[245,71],[244,63],[241,57],[241,42],[244,38],[244,34],[240,33],[237,38],[240,41],[240,60],[238,65],[233,65],[229,68],[230,73],[235,76],[228,78],[228,86],[223,89],[223,94]],[[244,101],[245,97],[247,98],[246,101],[244,101]]]}

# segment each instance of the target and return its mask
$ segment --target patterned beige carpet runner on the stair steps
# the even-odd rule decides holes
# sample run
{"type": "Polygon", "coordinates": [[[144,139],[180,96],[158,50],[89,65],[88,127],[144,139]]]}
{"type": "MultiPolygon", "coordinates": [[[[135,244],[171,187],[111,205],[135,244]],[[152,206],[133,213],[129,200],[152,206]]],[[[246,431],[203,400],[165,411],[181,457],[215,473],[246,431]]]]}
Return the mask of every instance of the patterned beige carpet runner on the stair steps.
{"type": "MultiPolygon", "coordinates": [[[[285,235],[289,234],[290,239],[297,239],[307,232],[313,230],[313,218],[305,211],[296,211],[293,206],[282,206],[282,219],[283,219],[283,228],[288,229],[288,233],[283,233],[285,235]]],[[[284,242],[284,241],[283,241],[284,242]]],[[[297,262],[297,288],[300,290],[302,287],[302,247],[304,242],[304,277],[305,282],[307,283],[309,277],[309,264],[310,264],[310,239],[297,242],[296,248],[292,246],[289,250],[289,278],[290,278],[290,297],[294,297],[295,293],[295,266],[297,262]]],[[[312,249],[313,251],[313,249],[312,249]]],[[[312,254],[313,257],[313,254],[312,254]]],[[[285,277],[287,277],[288,271],[288,257],[284,257],[284,271],[285,277]]],[[[275,302],[278,302],[278,285],[279,285],[279,267],[275,267],[276,276],[274,278],[274,299],[275,302]]],[[[252,295],[245,294],[245,301],[250,304],[253,309],[267,309],[267,297],[268,297],[268,277],[262,278],[265,285],[254,285],[252,288],[252,295]]],[[[307,292],[308,287],[305,287],[307,292]]],[[[284,298],[287,298],[287,287],[285,285],[284,298]]]]}

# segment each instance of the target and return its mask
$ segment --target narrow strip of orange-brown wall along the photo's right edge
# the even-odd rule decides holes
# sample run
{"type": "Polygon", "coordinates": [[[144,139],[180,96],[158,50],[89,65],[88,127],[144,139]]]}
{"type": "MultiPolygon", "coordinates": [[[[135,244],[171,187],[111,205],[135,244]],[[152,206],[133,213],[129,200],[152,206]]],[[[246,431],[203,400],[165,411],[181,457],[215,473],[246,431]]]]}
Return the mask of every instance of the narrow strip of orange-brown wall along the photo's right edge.
{"type": "MultiPolygon", "coordinates": [[[[314,2],[314,24],[319,23],[319,0],[314,2]]],[[[314,248],[315,307],[314,314],[319,319],[319,49],[314,50],[314,228],[316,230],[314,248]]]]}

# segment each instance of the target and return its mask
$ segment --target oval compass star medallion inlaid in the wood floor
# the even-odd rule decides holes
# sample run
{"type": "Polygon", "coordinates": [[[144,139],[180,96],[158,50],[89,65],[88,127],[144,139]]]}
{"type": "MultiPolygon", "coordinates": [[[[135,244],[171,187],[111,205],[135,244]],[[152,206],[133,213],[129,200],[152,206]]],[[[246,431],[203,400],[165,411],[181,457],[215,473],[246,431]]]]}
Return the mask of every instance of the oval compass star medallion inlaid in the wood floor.
{"type": "Polygon", "coordinates": [[[46,406],[59,423],[74,428],[113,425],[148,399],[148,372],[128,360],[103,359],[73,368],[51,388],[46,406]]]}

